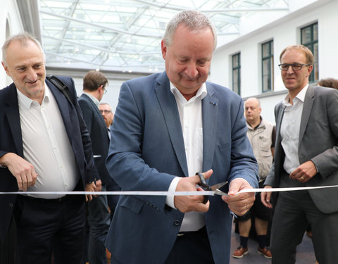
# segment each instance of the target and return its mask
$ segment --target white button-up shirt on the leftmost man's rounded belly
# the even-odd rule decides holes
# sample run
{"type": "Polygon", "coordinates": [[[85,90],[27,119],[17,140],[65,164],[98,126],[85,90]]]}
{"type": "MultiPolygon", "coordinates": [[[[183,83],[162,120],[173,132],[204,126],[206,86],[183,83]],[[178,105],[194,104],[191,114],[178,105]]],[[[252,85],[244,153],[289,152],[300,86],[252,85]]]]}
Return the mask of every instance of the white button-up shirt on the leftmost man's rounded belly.
{"type": "MultiPolygon", "coordinates": [[[[58,104],[45,84],[41,106],[18,89],[23,156],[37,172],[37,182],[27,191],[73,191],[80,180],[73,149],[58,104]]],[[[32,194],[43,199],[63,195],[32,194]]]]}

